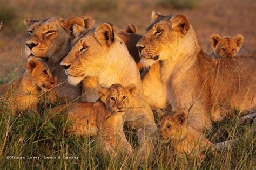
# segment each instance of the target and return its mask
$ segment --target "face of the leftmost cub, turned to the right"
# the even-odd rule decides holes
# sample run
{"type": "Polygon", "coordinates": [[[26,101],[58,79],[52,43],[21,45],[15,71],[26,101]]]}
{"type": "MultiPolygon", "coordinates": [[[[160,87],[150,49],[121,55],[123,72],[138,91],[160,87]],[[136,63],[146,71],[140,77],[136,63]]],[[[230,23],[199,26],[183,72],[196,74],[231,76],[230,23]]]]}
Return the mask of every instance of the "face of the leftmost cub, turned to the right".
{"type": "Polygon", "coordinates": [[[56,85],[57,78],[53,77],[45,61],[30,57],[26,66],[33,86],[39,86],[43,91],[48,91],[56,85]]]}

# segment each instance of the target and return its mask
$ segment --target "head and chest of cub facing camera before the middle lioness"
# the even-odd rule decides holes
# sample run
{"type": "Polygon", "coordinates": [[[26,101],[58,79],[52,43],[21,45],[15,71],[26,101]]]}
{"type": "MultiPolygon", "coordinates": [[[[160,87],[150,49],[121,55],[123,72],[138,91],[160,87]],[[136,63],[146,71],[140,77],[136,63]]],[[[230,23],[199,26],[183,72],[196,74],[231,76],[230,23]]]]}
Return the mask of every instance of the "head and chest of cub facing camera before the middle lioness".
{"type": "Polygon", "coordinates": [[[125,137],[123,125],[125,116],[131,109],[129,100],[133,97],[136,86],[130,84],[123,87],[120,84],[113,84],[110,88],[98,88],[101,100],[112,113],[100,131],[100,144],[112,157],[119,153],[132,154],[133,149],[125,137]]]}

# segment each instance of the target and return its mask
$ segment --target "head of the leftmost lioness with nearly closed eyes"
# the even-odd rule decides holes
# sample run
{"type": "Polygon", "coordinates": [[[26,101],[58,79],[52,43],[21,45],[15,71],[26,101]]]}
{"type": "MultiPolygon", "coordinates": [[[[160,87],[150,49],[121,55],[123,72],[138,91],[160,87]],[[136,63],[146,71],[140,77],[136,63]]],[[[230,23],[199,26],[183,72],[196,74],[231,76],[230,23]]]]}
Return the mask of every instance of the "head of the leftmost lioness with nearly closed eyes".
{"type": "MultiPolygon", "coordinates": [[[[74,24],[85,27],[87,18],[71,17],[63,20],[52,17],[42,20],[26,19],[29,38],[25,45],[25,54],[39,58],[50,58],[54,63],[65,56],[70,49],[71,30],[74,24]]],[[[91,23],[90,23],[91,24],[91,23]]]]}

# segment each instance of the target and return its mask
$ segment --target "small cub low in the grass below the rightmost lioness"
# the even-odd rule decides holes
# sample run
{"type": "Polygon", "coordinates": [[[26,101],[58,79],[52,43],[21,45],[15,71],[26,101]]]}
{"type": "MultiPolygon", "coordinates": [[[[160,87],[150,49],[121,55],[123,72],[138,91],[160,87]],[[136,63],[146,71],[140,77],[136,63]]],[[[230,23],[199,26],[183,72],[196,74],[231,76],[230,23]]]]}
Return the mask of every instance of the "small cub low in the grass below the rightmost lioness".
{"type": "Polygon", "coordinates": [[[200,162],[204,155],[201,154],[203,149],[211,147],[211,142],[208,141],[204,134],[194,129],[187,122],[187,113],[178,111],[174,114],[166,113],[160,117],[158,124],[159,137],[166,142],[172,142],[172,147],[178,158],[184,158],[185,164],[188,164],[188,159],[200,162]],[[187,159],[188,158],[188,159],[187,159]]]}

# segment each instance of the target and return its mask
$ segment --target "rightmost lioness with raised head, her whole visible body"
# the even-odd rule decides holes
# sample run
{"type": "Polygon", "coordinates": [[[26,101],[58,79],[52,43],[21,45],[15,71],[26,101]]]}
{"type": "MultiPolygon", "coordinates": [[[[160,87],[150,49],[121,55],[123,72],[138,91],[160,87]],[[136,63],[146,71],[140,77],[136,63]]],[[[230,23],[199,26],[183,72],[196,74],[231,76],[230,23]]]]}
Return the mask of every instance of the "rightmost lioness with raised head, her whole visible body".
{"type": "Polygon", "coordinates": [[[186,16],[152,16],[137,43],[143,65],[155,69],[143,79],[147,101],[158,108],[170,103],[172,111],[190,110],[188,122],[199,131],[210,129],[211,119],[220,121],[234,108],[256,107],[256,58],[210,57],[186,16]]]}

